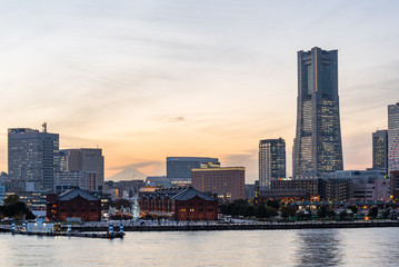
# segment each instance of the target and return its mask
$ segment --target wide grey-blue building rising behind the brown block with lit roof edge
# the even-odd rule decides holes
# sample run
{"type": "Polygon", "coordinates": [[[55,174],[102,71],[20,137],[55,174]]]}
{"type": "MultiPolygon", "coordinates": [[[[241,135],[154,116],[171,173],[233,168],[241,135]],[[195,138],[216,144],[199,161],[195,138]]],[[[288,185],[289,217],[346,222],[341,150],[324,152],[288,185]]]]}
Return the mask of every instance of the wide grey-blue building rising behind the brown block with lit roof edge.
{"type": "Polygon", "coordinates": [[[167,177],[168,178],[191,178],[191,169],[194,168],[219,168],[218,158],[198,157],[168,157],[167,177]]]}

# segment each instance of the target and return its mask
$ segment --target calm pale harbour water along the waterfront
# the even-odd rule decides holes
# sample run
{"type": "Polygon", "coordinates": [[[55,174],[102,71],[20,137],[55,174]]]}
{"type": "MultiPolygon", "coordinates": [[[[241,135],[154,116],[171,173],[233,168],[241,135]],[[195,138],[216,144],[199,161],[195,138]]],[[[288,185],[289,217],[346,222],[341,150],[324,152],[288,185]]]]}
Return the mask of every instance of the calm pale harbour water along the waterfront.
{"type": "Polygon", "coordinates": [[[399,266],[399,228],[127,233],[124,239],[0,234],[0,266],[399,266]]]}

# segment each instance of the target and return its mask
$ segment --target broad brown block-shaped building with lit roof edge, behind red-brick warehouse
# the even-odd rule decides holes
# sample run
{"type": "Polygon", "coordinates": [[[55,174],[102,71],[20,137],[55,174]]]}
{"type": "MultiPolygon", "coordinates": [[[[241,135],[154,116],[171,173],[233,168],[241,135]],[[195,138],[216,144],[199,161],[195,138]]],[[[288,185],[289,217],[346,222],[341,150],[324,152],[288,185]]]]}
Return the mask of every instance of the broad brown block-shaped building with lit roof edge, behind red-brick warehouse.
{"type": "Polygon", "coordinates": [[[246,168],[192,169],[191,185],[202,192],[218,195],[225,201],[246,198],[246,168]]]}

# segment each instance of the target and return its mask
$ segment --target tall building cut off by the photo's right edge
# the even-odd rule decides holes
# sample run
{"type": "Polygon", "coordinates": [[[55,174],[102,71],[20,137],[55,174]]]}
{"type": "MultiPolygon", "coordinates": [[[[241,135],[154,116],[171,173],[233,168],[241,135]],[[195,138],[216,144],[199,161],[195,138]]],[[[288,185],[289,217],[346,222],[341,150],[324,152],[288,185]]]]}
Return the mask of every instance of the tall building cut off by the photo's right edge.
{"type": "Polygon", "coordinates": [[[399,170],[399,102],[388,106],[388,168],[399,170]]]}

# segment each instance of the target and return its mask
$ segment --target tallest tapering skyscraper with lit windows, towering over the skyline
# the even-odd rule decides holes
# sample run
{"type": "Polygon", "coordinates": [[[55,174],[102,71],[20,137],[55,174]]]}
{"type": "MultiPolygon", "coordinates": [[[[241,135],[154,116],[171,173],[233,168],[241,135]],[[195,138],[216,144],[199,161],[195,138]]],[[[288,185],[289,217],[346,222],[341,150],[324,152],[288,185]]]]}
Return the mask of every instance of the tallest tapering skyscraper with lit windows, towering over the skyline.
{"type": "Polygon", "coordinates": [[[298,51],[297,132],[292,175],[315,178],[342,170],[338,51],[298,51]]]}

